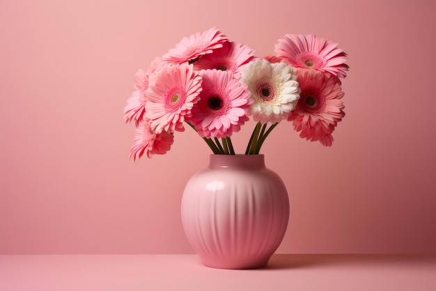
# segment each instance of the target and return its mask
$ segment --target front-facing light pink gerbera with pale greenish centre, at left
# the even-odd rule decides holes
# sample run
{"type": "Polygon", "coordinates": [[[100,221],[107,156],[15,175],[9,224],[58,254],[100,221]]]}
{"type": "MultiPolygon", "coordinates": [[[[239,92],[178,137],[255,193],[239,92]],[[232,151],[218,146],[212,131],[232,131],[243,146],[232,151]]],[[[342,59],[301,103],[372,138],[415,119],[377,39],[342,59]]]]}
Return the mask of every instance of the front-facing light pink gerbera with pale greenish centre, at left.
{"type": "Polygon", "coordinates": [[[183,121],[191,114],[201,91],[201,77],[187,63],[163,66],[150,75],[146,91],[146,119],[157,134],[183,131],[183,121]]]}

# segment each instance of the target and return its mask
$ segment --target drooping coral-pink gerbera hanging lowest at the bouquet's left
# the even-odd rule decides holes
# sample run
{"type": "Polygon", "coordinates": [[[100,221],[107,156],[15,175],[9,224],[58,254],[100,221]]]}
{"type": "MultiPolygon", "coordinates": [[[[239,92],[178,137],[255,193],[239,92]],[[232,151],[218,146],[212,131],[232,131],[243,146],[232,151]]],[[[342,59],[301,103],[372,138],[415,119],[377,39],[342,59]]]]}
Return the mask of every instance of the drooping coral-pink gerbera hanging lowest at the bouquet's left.
{"type": "Polygon", "coordinates": [[[141,120],[134,132],[133,146],[130,148],[130,158],[137,161],[143,154],[151,158],[153,154],[166,154],[173,144],[172,133],[163,131],[160,134],[153,133],[150,124],[141,120]]]}

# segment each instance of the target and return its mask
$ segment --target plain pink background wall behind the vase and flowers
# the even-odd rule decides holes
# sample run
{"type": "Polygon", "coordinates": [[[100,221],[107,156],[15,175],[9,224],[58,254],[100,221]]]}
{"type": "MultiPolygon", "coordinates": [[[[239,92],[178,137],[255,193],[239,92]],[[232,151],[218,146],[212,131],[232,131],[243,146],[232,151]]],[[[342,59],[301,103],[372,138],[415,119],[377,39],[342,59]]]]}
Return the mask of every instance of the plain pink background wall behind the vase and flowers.
{"type": "Polygon", "coordinates": [[[181,193],[209,149],[187,128],[133,163],[123,107],[138,68],[214,26],[259,55],[315,33],[350,57],[333,147],[286,123],[265,144],[292,203],[278,252],[435,253],[433,1],[206,3],[0,2],[0,253],[192,253],[181,193]]]}

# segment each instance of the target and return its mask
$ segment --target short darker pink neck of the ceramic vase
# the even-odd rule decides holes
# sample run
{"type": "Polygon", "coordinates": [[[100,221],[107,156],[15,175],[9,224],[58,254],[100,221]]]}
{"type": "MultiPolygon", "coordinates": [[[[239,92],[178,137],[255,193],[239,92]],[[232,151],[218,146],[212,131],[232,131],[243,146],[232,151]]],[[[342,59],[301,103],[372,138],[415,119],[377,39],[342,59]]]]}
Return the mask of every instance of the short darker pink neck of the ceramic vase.
{"type": "Polygon", "coordinates": [[[258,155],[217,155],[211,154],[209,167],[211,169],[229,167],[240,169],[261,169],[265,167],[263,154],[258,155]]]}

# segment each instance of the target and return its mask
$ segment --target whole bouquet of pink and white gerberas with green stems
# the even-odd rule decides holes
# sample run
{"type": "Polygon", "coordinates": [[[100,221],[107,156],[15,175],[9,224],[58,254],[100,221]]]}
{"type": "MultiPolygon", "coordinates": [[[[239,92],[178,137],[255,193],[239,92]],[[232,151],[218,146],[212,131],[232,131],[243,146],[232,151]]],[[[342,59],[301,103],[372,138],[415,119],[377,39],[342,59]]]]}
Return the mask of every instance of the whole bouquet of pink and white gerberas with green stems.
{"type": "Polygon", "coordinates": [[[274,52],[258,57],[215,28],[182,38],[134,76],[135,90],[124,109],[125,121],[137,127],[131,158],[165,154],[185,125],[214,154],[235,154],[231,135],[249,117],[257,124],[245,154],[258,154],[283,119],[292,121],[300,137],[331,146],[345,115],[345,52],[312,34],[286,34],[274,52]]]}

